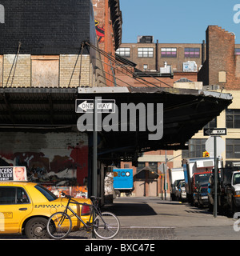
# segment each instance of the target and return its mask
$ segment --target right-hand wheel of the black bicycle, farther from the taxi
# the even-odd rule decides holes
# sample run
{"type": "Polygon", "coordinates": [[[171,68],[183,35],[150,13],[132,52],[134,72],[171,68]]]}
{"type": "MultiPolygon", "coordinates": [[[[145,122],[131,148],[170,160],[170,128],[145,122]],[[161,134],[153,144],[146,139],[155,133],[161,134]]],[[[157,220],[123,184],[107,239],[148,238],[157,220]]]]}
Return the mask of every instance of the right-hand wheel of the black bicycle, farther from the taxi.
{"type": "Polygon", "coordinates": [[[120,222],[115,214],[103,212],[94,220],[94,233],[98,238],[110,239],[114,238],[120,229],[120,222]]]}

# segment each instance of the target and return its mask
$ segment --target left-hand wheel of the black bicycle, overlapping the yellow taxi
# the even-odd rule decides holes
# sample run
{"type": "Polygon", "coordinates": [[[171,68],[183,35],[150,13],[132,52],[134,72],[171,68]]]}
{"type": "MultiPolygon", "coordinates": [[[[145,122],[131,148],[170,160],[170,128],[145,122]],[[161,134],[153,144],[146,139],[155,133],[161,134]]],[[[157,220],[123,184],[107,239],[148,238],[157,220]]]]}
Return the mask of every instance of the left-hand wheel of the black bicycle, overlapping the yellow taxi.
{"type": "Polygon", "coordinates": [[[72,220],[70,216],[64,212],[58,212],[50,216],[46,224],[47,233],[51,238],[65,238],[72,229],[72,220]]]}

